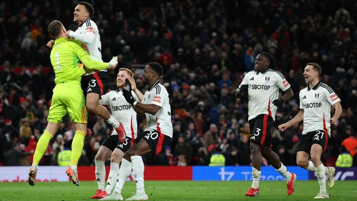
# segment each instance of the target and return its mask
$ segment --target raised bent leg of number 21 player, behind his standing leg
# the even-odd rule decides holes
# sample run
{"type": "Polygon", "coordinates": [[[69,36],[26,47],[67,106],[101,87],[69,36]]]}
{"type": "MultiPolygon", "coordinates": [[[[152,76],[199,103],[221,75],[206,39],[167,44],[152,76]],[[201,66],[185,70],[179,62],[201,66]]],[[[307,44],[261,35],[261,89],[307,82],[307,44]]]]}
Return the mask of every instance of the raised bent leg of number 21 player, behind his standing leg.
{"type": "MultiPolygon", "coordinates": [[[[313,165],[312,161],[309,161],[310,155],[305,151],[298,151],[296,154],[296,163],[298,166],[315,172],[315,165],[313,165]]],[[[332,188],[335,185],[335,180],[333,179],[333,175],[335,175],[335,168],[334,167],[326,167],[325,166],[325,173],[328,178],[328,187],[332,188]]]]}

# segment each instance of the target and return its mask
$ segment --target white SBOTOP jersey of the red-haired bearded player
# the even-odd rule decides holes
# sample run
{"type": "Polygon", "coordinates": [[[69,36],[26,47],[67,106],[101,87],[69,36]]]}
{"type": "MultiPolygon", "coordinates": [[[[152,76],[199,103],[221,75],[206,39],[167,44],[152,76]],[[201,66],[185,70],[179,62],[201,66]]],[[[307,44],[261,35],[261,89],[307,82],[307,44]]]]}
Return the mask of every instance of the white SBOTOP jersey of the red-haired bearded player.
{"type": "MultiPolygon", "coordinates": [[[[134,92],[131,92],[131,94],[136,101],[139,101],[134,92]]],[[[126,102],[123,92],[121,90],[112,90],[101,97],[99,104],[109,105],[112,116],[123,123],[126,135],[135,139],[137,136],[136,112],[131,104],[126,102]]],[[[117,135],[115,129],[113,129],[112,135],[117,135]]]]}

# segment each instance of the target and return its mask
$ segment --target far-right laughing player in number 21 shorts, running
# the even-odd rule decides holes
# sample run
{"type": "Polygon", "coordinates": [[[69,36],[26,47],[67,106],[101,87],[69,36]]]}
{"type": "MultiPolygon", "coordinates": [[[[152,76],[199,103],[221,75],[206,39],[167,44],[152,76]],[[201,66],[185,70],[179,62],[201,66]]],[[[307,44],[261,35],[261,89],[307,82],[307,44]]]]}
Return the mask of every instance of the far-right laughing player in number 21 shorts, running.
{"type": "Polygon", "coordinates": [[[337,126],[337,119],[341,116],[342,107],[340,98],[326,84],[319,81],[321,67],[316,63],[306,64],[304,70],[307,87],[300,91],[300,112],[287,123],[278,126],[280,131],[303,120],[302,137],[297,146],[296,163],[306,170],[316,171],[317,180],[320,184],[320,192],[315,198],[328,198],[326,190],[325,174],[328,178],[328,187],[335,184],[333,174],[335,168],[324,167],[320,158],[325,152],[327,140],[330,137],[330,124],[337,126]],[[331,106],[335,115],[331,118],[331,106]],[[309,161],[311,156],[311,161],[309,161]]]}

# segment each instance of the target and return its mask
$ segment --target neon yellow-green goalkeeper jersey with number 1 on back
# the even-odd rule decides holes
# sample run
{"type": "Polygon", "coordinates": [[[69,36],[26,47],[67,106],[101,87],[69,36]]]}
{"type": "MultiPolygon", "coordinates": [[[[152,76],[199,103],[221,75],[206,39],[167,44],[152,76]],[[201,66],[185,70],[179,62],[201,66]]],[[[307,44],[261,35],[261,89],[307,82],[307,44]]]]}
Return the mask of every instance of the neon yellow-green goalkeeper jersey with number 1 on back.
{"type": "Polygon", "coordinates": [[[84,43],[67,38],[55,40],[50,58],[56,75],[56,84],[74,80],[80,84],[81,76],[85,74],[83,66],[78,66],[80,62],[92,70],[104,70],[108,67],[107,63],[92,60],[84,43]]]}

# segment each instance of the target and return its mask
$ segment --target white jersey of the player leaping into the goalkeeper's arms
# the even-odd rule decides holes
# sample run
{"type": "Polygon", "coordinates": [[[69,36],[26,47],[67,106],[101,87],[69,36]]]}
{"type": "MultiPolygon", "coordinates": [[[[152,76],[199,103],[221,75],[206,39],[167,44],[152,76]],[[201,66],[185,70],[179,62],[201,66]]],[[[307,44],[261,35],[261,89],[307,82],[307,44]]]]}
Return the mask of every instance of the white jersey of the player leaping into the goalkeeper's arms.
{"type": "MultiPolygon", "coordinates": [[[[94,23],[94,21],[92,21],[90,18],[87,18],[86,20],[84,20],[82,22],[82,24],[78,26],[78,29],[75,32],[78,34],[84,34],[87,31],[91,31],[95,34],[93,43],[86,44],[90,57],[93,60],[103,62],[102,53],[101,53],[102,44],[100,42],[100,35],[99,35],[98,27],[94,23]]],[[[107,71],[107,70],[101,70],[101,71],[107,71]]],[[[94,74],[94,71],[92,71],[90,73],[86,73],[83,76],[91,75],[91,74],[94,74]]]]}

